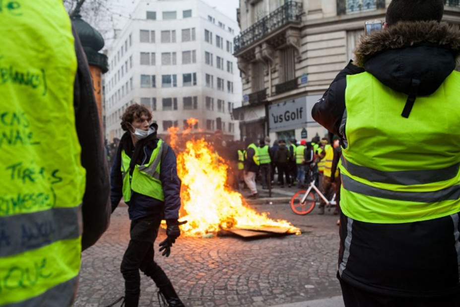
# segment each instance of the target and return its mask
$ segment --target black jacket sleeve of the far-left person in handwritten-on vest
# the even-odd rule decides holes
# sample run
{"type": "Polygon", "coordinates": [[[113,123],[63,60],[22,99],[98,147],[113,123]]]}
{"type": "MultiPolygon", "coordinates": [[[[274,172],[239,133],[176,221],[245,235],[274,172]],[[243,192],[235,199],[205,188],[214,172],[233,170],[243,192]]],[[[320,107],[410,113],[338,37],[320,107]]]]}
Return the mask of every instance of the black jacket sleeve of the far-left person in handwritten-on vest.
{"type": "Polygon", "coordinates": [[[72,27],[78,69],[73,88],[75,126],[81,146],[81,165],[86,170],[86,186],[83,196],[82,250],[90,247],[109,227],[109,171],[104,151],[101,124],[88,62],[80,40],[72,27]]]}

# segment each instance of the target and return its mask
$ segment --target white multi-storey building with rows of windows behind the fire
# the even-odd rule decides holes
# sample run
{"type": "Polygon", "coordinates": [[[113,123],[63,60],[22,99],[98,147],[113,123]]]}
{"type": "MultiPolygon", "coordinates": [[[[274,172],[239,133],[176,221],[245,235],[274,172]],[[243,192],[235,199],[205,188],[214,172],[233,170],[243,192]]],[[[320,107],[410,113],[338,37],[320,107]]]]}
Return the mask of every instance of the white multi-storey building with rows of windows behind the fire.
{"type": "Polygon", "coordinates": [[[132,103],[153,110],[160,135],[175,126],[239,136],[231,114],[242,95],[237,22],[200,0],[140,0],[131,16],[108,53],[106,138],[121,137],[120,116],[132,103]],[[199,123],[188,127],[191,117],[199,123]]]}

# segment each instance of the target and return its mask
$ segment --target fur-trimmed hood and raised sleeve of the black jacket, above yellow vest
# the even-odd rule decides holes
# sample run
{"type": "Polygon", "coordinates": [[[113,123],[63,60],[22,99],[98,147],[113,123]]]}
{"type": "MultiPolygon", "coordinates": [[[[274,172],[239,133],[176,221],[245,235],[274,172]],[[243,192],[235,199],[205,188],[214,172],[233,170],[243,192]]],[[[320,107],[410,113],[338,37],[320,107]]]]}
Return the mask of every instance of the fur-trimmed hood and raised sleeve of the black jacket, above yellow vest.
{"type": "MultiPolygon", "coordinates": [[[[399,22],[363,36],[354,51],[356,62],[335,77],[312,110],[313,118],[330,132],[345,137],[340,123],[345,111],[346,76],[364,71],[392,89],[409,94],[419,80],[416,95],[430,95],[456,67],[460,30],[436,21],[399,22]]],[[[414,107],[416,107],[416,102],[414,107]]],[[[402,112],[402,110],[401,110],[402,112]]]]}

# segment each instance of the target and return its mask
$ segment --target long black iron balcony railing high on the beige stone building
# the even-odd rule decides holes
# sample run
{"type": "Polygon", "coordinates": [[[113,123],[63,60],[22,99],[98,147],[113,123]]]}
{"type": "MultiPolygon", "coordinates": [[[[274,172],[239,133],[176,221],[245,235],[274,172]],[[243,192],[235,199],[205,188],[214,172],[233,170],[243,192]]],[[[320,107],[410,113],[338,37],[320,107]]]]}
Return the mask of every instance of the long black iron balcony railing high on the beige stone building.
{"type": "Polygon", "coordinates": [[[300,23],[301,14],[302,3],[289,1],[283,4],[235,37],[233,41],[235,53],[289,22],[300,23]]]}

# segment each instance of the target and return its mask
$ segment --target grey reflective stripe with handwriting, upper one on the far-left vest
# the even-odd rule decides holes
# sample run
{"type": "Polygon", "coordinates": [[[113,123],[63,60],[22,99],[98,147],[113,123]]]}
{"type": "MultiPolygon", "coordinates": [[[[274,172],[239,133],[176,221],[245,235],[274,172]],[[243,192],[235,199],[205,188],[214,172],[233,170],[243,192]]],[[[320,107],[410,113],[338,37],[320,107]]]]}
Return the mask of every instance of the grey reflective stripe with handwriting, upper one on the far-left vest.
{"type": "Polygon", "coordinates": [[[77,238],[81,223],[81,205],[0,217],[0,257],[77,238]]]}

